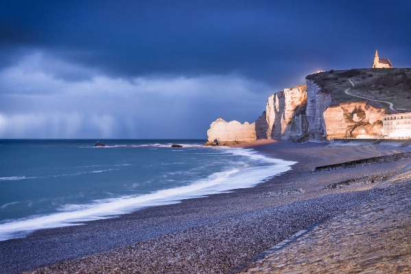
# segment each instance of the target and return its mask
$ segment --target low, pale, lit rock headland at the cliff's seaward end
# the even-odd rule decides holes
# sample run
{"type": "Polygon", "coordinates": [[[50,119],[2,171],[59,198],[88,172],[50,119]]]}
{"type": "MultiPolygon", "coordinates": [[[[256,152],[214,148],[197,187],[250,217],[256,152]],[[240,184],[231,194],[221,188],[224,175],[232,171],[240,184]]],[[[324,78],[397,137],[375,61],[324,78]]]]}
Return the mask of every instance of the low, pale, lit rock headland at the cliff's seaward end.
{"type": "Polygon", "coordinates": [[[208,141],[205,145],[215,145],[215,140],[218,141],[218,146],[230,146],[257,140],[255,123],[226,122],[221,118],[211,124],[210,129],[207,130],[207,136],[208,141]]]}

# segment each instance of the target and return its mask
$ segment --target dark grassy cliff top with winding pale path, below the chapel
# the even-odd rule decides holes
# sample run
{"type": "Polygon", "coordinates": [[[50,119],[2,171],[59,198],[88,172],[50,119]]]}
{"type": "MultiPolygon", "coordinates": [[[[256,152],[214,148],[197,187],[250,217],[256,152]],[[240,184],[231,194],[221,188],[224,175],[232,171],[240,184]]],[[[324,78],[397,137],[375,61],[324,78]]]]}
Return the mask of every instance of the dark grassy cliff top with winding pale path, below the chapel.
{"type": "Polygon", "coordinates": [[[411,69],[349,69],[325,71],[306,77],[314,80],[321,87],[322,93],[331,95],[331,106],[342,102],[367,101],[371,106],[388,109],[388,104],[357,98],[349,93],[364,98],[390,102],[397,112],[411,111],[411,69]],[[354,83],[354,87],[349,82],[354,83]]]}

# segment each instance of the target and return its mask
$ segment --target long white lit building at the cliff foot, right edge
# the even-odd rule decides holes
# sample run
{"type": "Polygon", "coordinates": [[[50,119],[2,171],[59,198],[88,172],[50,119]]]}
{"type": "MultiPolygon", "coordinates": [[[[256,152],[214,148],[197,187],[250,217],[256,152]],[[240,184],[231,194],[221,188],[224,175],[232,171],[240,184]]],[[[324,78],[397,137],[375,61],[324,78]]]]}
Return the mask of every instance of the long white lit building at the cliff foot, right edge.
{"type": "Polygon", "coordinates": [[[382,134],[387,137],[411,138],[411,113],[384,115],[382,134]]]}

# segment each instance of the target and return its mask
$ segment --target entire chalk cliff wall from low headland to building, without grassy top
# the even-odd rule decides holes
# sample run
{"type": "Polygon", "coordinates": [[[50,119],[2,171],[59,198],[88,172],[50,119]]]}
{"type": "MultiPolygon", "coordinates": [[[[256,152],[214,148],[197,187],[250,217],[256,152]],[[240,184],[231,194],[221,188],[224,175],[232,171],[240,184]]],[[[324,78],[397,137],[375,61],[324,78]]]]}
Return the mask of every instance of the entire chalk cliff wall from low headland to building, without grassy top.
{"type": "Polygon", "coordinates": [[[217,119],[207,131],[206,144],[240,144],[257,139],[326,141],[327,139],[381,135],[382,115],[366,102],[330,106],[331,95],[314,80],[270,95],[266,111],[256,122],[240,124],[217,119]]]}

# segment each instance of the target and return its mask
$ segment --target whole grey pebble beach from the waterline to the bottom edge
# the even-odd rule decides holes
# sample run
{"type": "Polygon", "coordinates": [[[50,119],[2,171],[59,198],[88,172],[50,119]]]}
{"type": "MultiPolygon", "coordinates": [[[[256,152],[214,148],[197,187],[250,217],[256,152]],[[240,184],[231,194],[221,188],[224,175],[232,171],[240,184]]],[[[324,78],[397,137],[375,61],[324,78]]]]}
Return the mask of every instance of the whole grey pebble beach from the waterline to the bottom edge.
{"type": "MultiPolygon", "coordinates": [[[[328,273],[331,264],[344,260],[348,264],[349,248],[355,242],[360,243],[355,245],[358,262],[365,260],[362,253],[372,255],[366,238],[368,232],[365,232],[378,227],[379,219],[372,218],[385,218],[379,216],[380,213],[371,214],[375,208],[384,206],[379,212],[387,216],[409,210],[410,195],[406,190],[411,183],[410,159],[321,172],[312,170],[323,165],[409,152],[411,148],[329,147],[325,143],[291,141],[260,141],[243,147],[298,163],[292,165],[292,170],[255,187],[5,240],[0,242],[0,273],[328,273]],[[364,212],[371,212],[371,217],[364,218],[364,212]],[[318,225],[280,251],[250,261],[313,224],[318,225]],[[325,262],[322,258],[329,256],[325,252],[329,246],[335,247],[340,255],[334,254],[332,258],[337,259],[325,262]],[[301,259],[301,254],[305,254],[305,259],[301,259]],[[299,268],[294,267],[296,264],[299,268]],[[307,268],[307,264],[313,265],[312,269],[307,268]]],[[[406,229],[409,216],[402,214],[392,220],[401,220],[397,228],[410,231],[406,229]]],[[[397,239],[387,233],[399,231],[394,232],[389,225],[384,227],[385,230],[370,232],[373,240],[397,239]]],[[[375,252],[385,250],[384,242],[379,244],[375,252]]],[[[403,245],[401,250],[403,255],[398,260],[406,265],[410,260],[410,247],[403,245]]],[[[399,251],[393,248],[386,253],[399,251]]],[[[405,266],[395,268],[398,260],[384,260],[386,273],[406,271],[405,266]]],[[[368,266],[358,263],[350,267],[353,271],[368,266]]],[[[336,273],[340,270],[336,269],[336,273]]]]}

